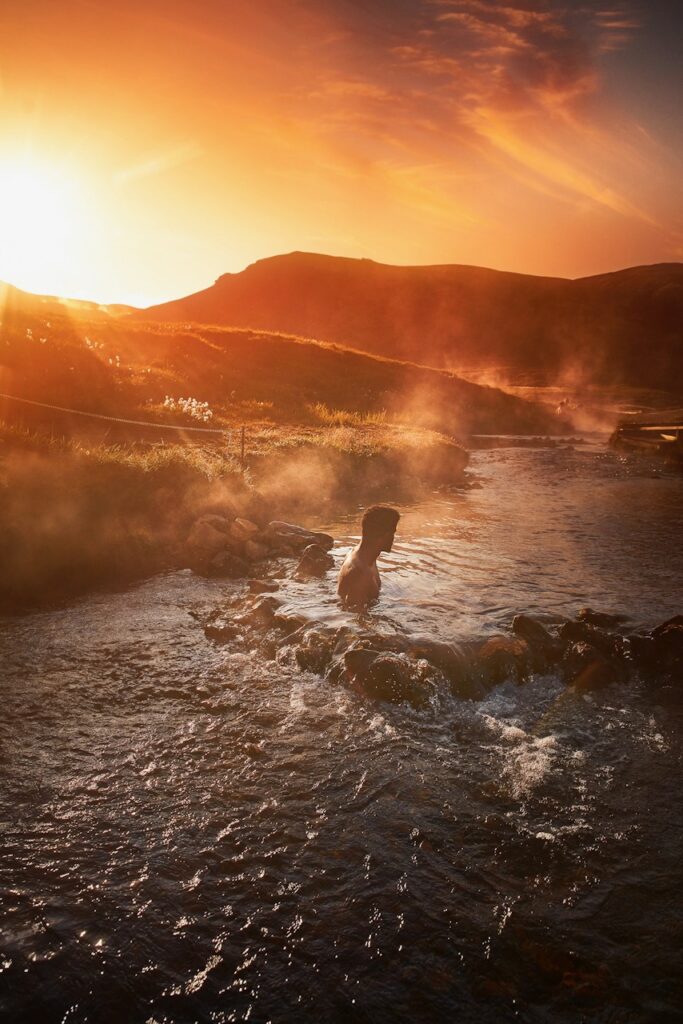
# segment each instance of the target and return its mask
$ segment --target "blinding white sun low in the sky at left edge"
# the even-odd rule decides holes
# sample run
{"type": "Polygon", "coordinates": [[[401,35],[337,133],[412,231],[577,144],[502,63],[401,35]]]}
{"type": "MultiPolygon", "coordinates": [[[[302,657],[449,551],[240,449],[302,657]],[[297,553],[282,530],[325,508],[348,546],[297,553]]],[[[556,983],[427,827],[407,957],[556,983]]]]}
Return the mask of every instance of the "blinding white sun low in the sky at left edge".
{"type": "Polygon", "coordinates": [[[77,178],[58,167],[0,162],[0,281],[58,294],[84,257],[85,213],[77,178]]]}

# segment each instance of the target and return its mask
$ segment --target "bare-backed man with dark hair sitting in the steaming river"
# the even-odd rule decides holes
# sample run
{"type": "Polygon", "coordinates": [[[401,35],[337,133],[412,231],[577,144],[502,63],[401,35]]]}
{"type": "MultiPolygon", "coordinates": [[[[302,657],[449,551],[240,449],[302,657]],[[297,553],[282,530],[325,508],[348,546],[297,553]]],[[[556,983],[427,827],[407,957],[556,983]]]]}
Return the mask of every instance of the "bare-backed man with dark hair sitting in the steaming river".
{"type": "Polygon", "coordinates": [[[337,593],[344,604],[359,607],[380,596],[377,559],[382,551],[391,551],[400,516],[387,505],[366,509],[360,529],[360,544],[349,551],[339,572],[337,593]]]}

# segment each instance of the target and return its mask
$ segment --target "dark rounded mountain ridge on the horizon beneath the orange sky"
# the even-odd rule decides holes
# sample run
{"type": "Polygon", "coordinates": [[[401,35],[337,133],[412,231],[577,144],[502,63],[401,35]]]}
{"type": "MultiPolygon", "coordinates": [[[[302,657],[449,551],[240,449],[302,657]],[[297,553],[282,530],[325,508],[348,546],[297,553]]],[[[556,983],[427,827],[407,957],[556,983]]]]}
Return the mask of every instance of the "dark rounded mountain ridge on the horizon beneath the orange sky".
{"type": "Polygon", "coordinates": [[[492,379],[671,385],[683,263],[569,281],[291,253],[134,315],[281,331],[492,379]]]}

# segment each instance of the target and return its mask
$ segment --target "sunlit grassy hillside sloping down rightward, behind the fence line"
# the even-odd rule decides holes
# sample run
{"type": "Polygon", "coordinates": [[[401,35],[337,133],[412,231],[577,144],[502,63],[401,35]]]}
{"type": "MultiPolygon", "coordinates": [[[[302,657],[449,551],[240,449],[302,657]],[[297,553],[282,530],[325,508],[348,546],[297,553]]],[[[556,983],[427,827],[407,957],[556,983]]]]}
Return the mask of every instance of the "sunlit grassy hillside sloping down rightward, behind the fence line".
{"type": "MultiPolygon", "coordinates": [[[[55,406],[187,424],[195,422],[191,417],[164,408],[164,400],[193,397],[208,402],[213,426],[259,422],[328,427],[336,411],[461,437],[471,431],[561,428],[544,409],[496,388],[331,344],[199,325],[45,315],[40,306],[26,303],[6,306],[3,313],[0,391],[55,406]],[[328,413],[322,415],[316,404],[328,413]]],[[[0,404],[0,413],[5,419],[12,416],[7,402],[0,404]]],[[[54,415],[25,407],[19,422],[30,426],[50,417],[56,423],[54,415]]]]}

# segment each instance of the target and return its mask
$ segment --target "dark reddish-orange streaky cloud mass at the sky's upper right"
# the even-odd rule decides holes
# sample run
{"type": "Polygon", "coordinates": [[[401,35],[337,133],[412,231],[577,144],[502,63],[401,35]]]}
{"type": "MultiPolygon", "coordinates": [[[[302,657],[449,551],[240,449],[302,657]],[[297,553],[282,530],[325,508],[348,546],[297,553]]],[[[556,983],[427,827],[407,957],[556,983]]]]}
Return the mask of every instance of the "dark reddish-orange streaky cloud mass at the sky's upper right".
{"type": "MultiPolygon", "coordinates": [[[[446,202],[441,186],[432,197],[435,179],[470,174],[476,165],[482,180],[507,170],[544,196],[655,223],[623,194],[620,162],[629,155],[600,108],[599,58],[638,31],[631,7],[329,0],[324,9],[342,30],[341,42],[314,65],[312,84],[298,89],[297,117],[329,139],[343,136],[343,146],[355,147],[392,186],[404,177],[407,195],[421,197],[426,212],[437,216],[446,202]],[[430,168],[424,195],[423,165],[430,168]]],[[[452,200],[461,216],[477,219],[462,197],[452,200]]]]}

